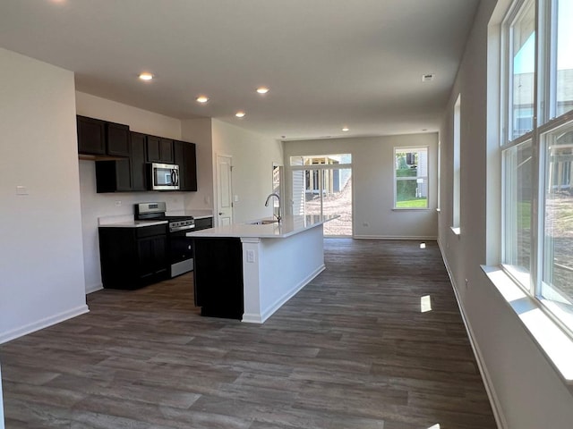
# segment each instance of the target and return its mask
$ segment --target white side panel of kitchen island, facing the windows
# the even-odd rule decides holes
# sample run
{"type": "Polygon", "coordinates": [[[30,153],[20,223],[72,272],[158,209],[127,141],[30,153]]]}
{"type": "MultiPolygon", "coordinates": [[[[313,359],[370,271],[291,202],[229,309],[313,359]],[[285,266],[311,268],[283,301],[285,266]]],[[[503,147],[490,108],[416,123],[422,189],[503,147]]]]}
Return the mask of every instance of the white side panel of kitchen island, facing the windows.
{"type": "Polygon", "coordinates": [[[324,270],[323,240],[318,225],[284,239],[261,239],[254,262],[244,251],[244,271],[253,273],[244,277],[244,322],[263,323],[324,270]]]}

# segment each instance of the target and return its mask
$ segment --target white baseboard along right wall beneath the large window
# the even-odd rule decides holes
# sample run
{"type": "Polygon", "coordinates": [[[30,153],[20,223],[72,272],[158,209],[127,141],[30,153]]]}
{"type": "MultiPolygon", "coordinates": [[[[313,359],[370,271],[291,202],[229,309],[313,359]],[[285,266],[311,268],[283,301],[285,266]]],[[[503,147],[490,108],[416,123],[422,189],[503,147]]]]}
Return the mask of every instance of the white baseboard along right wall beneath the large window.
{"type": "Polygon", "coordinates": [[[472,326],[466,319],[466,312],[464,311],[464,305],[462,301],[459,299],[458,286],[450,270],[448,259],[444,256],[440,240],[438,240],[438,248],[440,248],[441,259],[444,261],[444,265],[446,265],[446,271],[448,271],[449,282],[452,285],[452,289],[454,290],[454,295],[456,296],[456,301],[458,302],[459,313],[462,316],[464,326],[466,326],[467,337],[472,346],[472,349],[474,350],[474,356],[477,362],[477,367],[480,371],[480,374],[482,375],[483,385],[485,387],[487,396],[490,400],[490,405],[492,406],[495,422],[498,425],[498,429],[509,429],[505,416],[503,416],[503,413],[501,411],[502,408],[500,400],[498,400],[498,396],[495,392],[495,389],[493,388],[492,377],[490,376],[490,373],[487,370],[487,366],[485,366],[485,362],[483,361],[483,355],[480,350],[479,344],[475,341],[475,335],[474,331],[472,330],[472,326]]]}

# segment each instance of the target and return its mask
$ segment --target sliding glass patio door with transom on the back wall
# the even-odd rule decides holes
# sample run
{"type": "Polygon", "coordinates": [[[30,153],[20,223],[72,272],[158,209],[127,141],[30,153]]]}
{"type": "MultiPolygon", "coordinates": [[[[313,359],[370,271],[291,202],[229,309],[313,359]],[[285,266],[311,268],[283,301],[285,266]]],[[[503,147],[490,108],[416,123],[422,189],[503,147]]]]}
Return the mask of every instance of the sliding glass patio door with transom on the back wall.
{"type": "Polygon", "coordinates": [[[326,236],[352,236],[352,156],[292,156],[293,214],[339,214],[326,236]]]}

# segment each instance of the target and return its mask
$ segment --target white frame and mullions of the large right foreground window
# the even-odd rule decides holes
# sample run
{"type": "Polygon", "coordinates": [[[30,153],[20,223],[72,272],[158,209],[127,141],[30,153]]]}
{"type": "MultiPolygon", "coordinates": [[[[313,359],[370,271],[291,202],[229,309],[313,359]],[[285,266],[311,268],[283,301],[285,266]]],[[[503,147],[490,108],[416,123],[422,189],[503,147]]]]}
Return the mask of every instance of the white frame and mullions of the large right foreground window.
{"type": "MultiPolygon", "coordinates": [[[[560,326],[560,329],[573,339],[573,324],[570,323],[572,315],[563,317],[555,311],[552,301],[543,298],[542,282],[543,269],[547,264],[545,260],[545,189],[544,181],[547,164],[544,156],[544,137],[560,128],[573,127],[573,111],[554,117],[557,112],[556,80],[557,80],[557,7],[559,0],[516,0],[510,7],[508,13],[501,23],[501,49],[500,49],[500,154],[501,154],[501,217],[500,217],[500,267],[504,273],[515,282],[526,294],[535,299],[543,312],[548,315],[553,322],[560,326]],[[530,130],[517,138],[514,136],[514,112],[513,88],[514,88],[514,52],[512,40],[512,26],[530,4],[535,8],[535,71],[534,71],[534,114],[533,130],[530,130]],[[509,202],[505,200],[506,190],[511,186],[507,181],[507,154],[509,150],[522,145],[528,141],[532,144],[532,201],[530,208],[531,215],[531,262],[528,282],[515,275],[515,272],[506,264],[509,255],[509,242],[506,240],[509,209],[516,210],[516,207],[509,207],[509,202]],[[567,322],[564,322],[567,320],[567,322]]],[[[525,278],[525,277],[524,277],[525,278]]],[[[573,295],[568,295],[567,299],[573,302],[573,295]]]]}

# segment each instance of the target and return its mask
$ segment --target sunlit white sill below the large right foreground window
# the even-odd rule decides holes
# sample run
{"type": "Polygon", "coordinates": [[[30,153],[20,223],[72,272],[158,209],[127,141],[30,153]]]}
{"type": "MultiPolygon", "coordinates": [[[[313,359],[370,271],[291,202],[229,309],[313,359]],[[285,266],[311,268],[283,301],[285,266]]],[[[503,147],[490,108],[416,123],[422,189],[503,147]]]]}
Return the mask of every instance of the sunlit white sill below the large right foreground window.
{"type": "Polygon", "coordinates": [[[482,265],[482,270],[525,326],[543,355],[560,374],[563,381],[573,385],[573,339],[563,332],[539,303],[526,294],[499,266],[482,265]]]}

